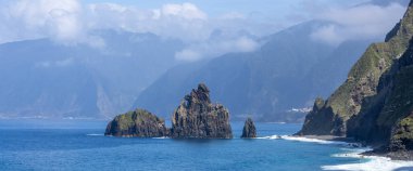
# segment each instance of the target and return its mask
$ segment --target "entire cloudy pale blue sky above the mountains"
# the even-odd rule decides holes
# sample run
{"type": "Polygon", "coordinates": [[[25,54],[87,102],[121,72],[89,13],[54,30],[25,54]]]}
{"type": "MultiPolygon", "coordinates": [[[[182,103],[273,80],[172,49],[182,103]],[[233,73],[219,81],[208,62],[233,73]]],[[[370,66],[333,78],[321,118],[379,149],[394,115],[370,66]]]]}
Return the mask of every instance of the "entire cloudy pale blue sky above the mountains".
{"type": "Polygon", "coordinates": [[[312,38],[337,45],[351,39],[384,37],[405,10],[396,2],[387,5],[366,2],[368,0],[2,0],[0,43],[50,38],[65,45],[85,43],[104,48],[104,40],[93,36],[93,30],[152,32],[183,40],[188,45],[175,57],[197,61],[226,52],[253,51],[259,47],[256,37],[318,19],[331,24],[314,30],[312,38]]]}

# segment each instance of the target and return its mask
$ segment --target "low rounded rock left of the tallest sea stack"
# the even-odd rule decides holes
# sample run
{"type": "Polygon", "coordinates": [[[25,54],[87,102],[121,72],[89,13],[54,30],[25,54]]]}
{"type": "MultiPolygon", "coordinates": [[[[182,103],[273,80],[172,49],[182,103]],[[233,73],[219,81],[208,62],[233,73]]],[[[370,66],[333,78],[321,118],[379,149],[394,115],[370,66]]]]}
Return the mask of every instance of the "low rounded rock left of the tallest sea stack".
{"type": "Polygon", "coordinates": [[[167,129],[163,119],[145,109],[136,109],[116,116],[108,123],[104,135],[160,137],[167,135],[167,129]]]}

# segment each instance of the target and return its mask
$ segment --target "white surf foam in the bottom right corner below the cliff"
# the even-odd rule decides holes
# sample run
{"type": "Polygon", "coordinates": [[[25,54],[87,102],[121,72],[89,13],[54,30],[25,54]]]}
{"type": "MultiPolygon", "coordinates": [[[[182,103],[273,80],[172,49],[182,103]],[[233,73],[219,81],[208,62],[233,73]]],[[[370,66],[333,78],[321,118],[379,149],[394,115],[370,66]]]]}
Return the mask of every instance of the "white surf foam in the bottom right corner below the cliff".
{"type": "MultiPolygon", "coordinates": [[[[336,154],[331,157],[346,157],[346,158],[360,158],[367,159],[366,162],[358,162],[358,163],[345,163],[345,165],[336,165],[336,166],[323,166],[323,170],[346,170],[346,171],[391,171],[400,168],[405,168],[404,170],[413,170],[413,161],[399,161],[391,160],[386,157],[378,156],[363,156],[360,155],[363,152],[370,150],[368,148],[360,148],[350,150],[350,153],[345,154],[336,154]]],[[[402,169],[403,170],[403,169],[402,169]]]]}

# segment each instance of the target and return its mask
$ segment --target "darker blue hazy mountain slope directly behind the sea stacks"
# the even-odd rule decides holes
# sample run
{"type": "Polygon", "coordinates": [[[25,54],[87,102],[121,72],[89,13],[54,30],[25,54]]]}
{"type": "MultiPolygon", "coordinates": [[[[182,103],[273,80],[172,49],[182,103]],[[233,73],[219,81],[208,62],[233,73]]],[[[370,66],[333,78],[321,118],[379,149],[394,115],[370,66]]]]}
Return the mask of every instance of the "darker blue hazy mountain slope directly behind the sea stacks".
{"type": "Polygon", "coordinates": [[[266,38],[255,52],[174,67],[139,95],[135,107],[167,118],[182,94],[204,82],[212,100],[228,106],[233,119],[253,116],[265,121],[299,121],[305,114],[287,111],[311,106],[317,95],[329,95],[372,42],[333,47],[314,41],[311,32],[326,24],[314,21],[293,26],[266,38]]]}

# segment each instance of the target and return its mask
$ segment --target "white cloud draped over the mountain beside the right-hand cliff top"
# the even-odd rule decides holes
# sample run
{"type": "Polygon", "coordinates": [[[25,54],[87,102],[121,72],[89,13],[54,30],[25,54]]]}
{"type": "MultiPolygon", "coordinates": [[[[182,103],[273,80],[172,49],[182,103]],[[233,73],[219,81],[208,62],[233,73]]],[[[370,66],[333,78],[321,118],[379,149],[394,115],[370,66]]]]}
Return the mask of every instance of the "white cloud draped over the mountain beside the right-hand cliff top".
{"type": "Polygon", "coordinates": [[[387,6],[364,4],[351,9],[329,9],[317,18],[330,24],[314,30],[311,37],[330,44],[339,44],[346,40],[384,38],[404,11],[405,8],[399,3],[387,6]]]}

